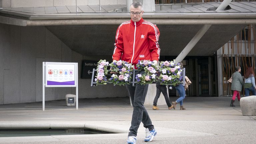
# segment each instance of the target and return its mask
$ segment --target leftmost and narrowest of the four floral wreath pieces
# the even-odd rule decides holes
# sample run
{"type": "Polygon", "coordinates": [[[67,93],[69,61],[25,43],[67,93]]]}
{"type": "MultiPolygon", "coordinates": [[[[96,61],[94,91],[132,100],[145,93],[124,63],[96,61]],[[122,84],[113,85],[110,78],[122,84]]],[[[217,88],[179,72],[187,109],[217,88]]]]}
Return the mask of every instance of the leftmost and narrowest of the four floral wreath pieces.
{"type": "Polygon", "coordinates": [[[94,81],[96,82],[96,85],[98,84],[107,84],[107,77],[106,74],[108,73],[107,67],[109,65],[109,62],[106,62],[106,60],[100,60],[98,62],[97,66],[97,75],[94,81]]]}

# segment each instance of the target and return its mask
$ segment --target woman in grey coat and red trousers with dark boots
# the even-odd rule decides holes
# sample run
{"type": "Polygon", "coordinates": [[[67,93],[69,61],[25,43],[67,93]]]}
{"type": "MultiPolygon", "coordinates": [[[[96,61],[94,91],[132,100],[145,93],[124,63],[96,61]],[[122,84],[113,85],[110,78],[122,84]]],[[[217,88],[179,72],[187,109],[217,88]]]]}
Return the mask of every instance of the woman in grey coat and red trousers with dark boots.
{"type": "Polygon", "coordinates": [[[240,94],[239,92],[242,91],[242,86],[244,86],[244,81],[242,78],[242,75],[240,74],[241,72],[241,67],[236,66],[236,72],[232,74],[232,84],[231,84],[231,90],[233,90],[233,97],[230,103],[231,107],[234,107],[234,102],[237,96],[238,101],[240,101],[240,94]]]}

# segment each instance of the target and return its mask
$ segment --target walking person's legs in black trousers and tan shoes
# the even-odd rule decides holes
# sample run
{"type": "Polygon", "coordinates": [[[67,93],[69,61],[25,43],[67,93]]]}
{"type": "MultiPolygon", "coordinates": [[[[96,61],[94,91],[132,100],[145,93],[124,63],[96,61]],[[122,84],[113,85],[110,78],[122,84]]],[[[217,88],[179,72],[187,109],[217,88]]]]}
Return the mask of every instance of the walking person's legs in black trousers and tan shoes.
{"type": "Polygon", "coordinates": [[[164,99],[165,99],[165,102],[168,106],[168,109],[172,109],[173,106],[172,106],[172,104],[169,100],[169,95],[167,93],[166,85],[161,85],[160,83],[156,83],[156,96],[155,96],[155,99],[154,99],[154,102],[153,102],[153,110],[159,110],[159,108],[157,107],[157,101],[158,101],[158,98],[160,97],[161,92],[164,95],[164,99]]]}

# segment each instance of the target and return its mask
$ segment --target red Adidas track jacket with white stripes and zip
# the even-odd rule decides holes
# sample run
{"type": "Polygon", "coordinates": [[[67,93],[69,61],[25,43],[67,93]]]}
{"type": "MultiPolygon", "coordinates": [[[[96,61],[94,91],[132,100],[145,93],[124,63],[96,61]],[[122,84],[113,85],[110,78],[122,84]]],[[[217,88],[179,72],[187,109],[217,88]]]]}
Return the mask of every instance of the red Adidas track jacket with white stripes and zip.
{"type": "Polygon", "coordinates": [[[142,18],[122,23],[116,32],[113,60],[137,64],[138,60],[159,60],[158,28],[142,18]]]}

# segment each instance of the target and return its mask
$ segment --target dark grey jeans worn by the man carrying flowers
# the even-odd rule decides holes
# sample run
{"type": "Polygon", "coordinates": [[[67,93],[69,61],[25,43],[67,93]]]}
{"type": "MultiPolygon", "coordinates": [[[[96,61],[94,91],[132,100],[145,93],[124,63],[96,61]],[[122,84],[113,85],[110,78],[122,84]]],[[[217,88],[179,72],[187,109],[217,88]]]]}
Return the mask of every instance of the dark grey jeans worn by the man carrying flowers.
{"type": "Polygon", "coordinates": [[[128,136],[137,136],[138,128],[141,122],[145,128],[149,129],[149,131],[153,130],[154,126],[152,125],[148,112],[144,107],[148,85],[137,84],[136,87],[126,85],[126,89],[131,98],[133,106],[132,122],[128,136]]]}

